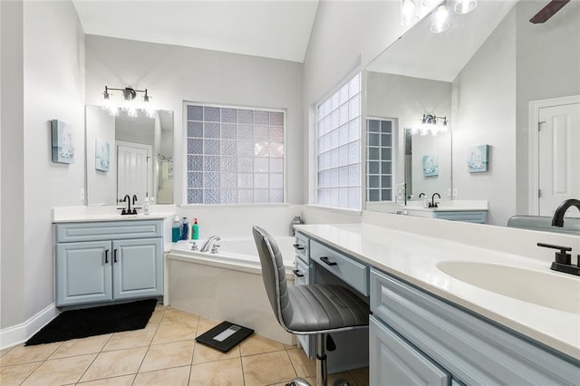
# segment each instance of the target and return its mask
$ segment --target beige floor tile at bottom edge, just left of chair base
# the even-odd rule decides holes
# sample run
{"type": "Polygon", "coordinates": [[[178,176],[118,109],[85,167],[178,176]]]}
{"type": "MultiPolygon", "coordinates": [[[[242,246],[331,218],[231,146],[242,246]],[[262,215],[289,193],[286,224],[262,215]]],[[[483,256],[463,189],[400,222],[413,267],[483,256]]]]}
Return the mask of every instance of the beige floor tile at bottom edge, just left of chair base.
{"type": "Polygon", "coordinates": [[[242,357],[246,386],[262,386],[290,381],[296,376],[288,354],[268,352],[242,357]]]}

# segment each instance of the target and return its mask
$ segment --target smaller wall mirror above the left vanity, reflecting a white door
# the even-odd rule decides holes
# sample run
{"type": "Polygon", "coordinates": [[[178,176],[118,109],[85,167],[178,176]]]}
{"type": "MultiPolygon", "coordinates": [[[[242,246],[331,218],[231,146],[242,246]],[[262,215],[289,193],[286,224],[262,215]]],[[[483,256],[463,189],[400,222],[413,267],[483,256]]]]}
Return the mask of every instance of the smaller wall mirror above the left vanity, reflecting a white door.
{"type": "Polygon", "coordinates": [[[173,203],[173,111],[111,116],[86,106],[87,204],[118,205],[125,195],[173,203]]]}

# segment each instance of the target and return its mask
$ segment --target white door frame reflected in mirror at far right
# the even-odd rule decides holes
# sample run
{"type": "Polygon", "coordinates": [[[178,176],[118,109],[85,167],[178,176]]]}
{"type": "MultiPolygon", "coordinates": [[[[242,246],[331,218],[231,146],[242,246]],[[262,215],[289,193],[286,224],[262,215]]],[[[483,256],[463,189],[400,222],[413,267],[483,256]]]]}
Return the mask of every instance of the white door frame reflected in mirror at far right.
{"type": "Polygon", "coordinates": [[[580,95],[529,101],[528,104],[528,200],[527,210],[530,215],[539,215],[539,115],[540,109],[565,104],[580,103],[580,95]]]}

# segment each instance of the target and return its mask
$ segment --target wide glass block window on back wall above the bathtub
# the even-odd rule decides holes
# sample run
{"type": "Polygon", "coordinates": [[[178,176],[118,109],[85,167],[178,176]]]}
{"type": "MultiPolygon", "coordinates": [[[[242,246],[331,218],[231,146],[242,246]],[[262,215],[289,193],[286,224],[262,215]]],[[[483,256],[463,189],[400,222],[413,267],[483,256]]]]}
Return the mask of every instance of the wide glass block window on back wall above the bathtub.
{"type": "Polygon", "coordinates": [[[284,202],[284,111],[185,105],[188,204],[284,202]]]}

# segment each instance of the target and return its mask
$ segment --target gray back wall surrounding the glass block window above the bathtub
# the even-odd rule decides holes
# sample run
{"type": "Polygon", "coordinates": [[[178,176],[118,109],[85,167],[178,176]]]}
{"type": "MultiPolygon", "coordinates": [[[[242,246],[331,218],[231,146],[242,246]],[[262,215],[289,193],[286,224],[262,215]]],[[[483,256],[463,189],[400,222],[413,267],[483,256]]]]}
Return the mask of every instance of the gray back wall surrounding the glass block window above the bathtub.
{"type": "Polygon", "coordinates": [[[178,205],[185,203],[183,101],[286,110],[286,201],[303,203],[301,63],[87,35],[86,72],[87,104],[101,104],[105,85],[131,86],[147,88],[156,109],[174,111],[178,205]]]}

